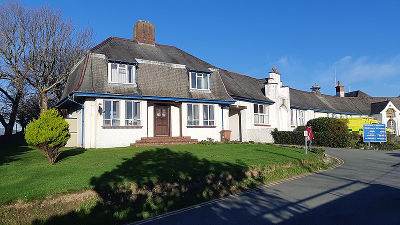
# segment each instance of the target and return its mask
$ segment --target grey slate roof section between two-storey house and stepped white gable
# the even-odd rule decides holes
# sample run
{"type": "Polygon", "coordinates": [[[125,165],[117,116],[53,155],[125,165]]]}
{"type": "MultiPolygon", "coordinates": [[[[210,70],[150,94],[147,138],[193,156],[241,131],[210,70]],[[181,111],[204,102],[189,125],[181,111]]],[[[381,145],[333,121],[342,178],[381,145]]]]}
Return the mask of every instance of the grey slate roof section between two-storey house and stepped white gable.
{"type": "Polygon", "coordinates": [[[264,79],[260,80],[224,69],[220,69],[219,74],[230,96],[274,102],[265,97],[264,79]]]}

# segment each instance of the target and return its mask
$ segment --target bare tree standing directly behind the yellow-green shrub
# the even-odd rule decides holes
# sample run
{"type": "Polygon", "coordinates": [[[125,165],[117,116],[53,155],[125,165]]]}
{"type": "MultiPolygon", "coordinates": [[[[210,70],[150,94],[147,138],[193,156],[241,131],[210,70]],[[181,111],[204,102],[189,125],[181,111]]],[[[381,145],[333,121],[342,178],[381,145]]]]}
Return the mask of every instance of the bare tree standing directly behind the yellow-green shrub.
{"type": "Polygon", "coordinates": [[[70,70],[93,45],[94,34],[89,26],[79,29],[71,19],[62,17],[61,10],[47,5],[35,11],[33,26],[30,38],[36,63],[27,81],[40,95],[40,112],[44,112],[48,98],[59,95],[70,70]]]}

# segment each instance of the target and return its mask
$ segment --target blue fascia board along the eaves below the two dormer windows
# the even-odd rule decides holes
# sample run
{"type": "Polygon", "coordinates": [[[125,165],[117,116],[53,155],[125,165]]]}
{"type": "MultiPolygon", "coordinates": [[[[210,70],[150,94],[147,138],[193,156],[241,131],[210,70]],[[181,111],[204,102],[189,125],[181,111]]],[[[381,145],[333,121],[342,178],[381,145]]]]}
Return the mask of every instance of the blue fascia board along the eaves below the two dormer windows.
{"type": "Polygon", "coordinates": [[[148,95],[127,95],[127,94],[92,93],[92,92],[74,92],[73,95],[84,96],[84,97],[119,97],[119,98],[127,98],[127,99],[209,102],[209,103],[220,103],[220,104],[233,104],[234,103],[234,101],[224,101],[224,100],[214,100],[214,99],[157,97],[157,96],[148,96],[148,95]]]}

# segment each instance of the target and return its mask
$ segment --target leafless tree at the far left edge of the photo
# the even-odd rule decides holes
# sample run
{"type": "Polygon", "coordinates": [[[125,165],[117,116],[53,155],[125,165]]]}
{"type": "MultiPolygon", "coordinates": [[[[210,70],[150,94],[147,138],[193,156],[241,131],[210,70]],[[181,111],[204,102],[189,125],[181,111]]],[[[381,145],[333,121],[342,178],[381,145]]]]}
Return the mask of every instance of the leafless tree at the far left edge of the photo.
{"type": "Polygon", "coordinates": [[[34,52],[29,42],[32,14],[14,1],[0,4],[0,11],[0,92],[10,102],[9,110],[0,112],[0,122],[4,135],[10,135],[26,77],[33,70],[30,59],[34,52]]]}

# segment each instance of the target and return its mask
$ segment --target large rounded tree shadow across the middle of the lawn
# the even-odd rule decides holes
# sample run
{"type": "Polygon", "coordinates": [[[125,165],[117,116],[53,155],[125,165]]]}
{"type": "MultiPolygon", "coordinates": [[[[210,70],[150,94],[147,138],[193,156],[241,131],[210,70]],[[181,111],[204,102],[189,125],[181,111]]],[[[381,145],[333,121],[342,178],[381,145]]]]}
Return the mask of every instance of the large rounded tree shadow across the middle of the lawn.
{"type": "Polygon", "coordinates": [[[33,224],[118,224],[186,207],[229,193],[248,166],[156,148],[137,153],[114,170],[92,177],[101,201],[33,224]]]}

